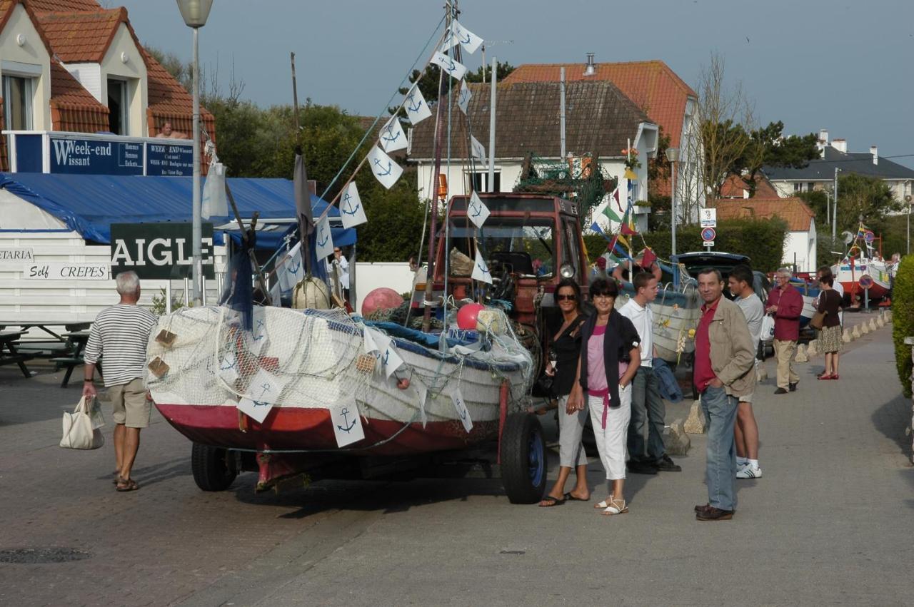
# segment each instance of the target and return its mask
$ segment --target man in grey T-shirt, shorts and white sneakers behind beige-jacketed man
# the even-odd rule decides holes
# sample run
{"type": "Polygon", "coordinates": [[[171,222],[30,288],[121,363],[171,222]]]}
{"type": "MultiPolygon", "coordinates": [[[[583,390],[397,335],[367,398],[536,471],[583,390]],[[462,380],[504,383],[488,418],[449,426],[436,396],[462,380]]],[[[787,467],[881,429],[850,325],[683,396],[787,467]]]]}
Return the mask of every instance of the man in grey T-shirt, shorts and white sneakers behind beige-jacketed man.
{"type": "MultiPolygon", "coordinates": [[[[742,310],[749,327],[749,337],[752,338],[753,352],[759,351],[761,339],[761,319],[765,317],[764,306],[761,298],[752,288],[752,270],[749,266],[739,265],[730,271],[728,278],[730,294],[734,303],[742,310]]],[[[758,364],[758,357],[752,357],[752,367],[758,364]]],[[[753,374],[753,380],[755,379],[753,374]]],[[[752,412],[752,395],[755,384],[751,384],[752,391],[739,396],[737,408],[737,423],[734,426],[734,439],[737,448],[737,478],[760,478],[759,466],[759,424],[756,424],[755,413],[752,412]]]]}

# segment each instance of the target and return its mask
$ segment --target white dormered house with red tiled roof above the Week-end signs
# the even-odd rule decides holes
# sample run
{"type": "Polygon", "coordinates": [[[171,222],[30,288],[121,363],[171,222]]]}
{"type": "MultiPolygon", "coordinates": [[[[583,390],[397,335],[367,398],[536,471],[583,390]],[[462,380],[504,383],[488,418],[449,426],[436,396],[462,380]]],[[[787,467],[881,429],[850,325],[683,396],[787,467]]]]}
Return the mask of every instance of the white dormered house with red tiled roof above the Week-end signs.
{"type": "MultiPolygon", "coordinates": [[[[122,7],[0,0],[0,77],[5,131],[152,137],[165,121],[193,131],[190,94],[140,45],[122,7]]],[[[213,116],[202,110],[201,120],[215,139],[213,116]]]]}

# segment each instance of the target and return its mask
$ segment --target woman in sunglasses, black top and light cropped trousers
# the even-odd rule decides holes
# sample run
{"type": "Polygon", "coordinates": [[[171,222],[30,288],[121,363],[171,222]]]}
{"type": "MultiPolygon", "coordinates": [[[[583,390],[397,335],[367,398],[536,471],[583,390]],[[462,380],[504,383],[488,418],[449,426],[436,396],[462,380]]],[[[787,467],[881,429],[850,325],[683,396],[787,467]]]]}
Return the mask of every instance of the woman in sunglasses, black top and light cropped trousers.
{"type": "Polygon", "coordinates": [[[558,478],[539,505],[543,508],[561,506],[566,500],[586,502],[590,499],[587,487],[587,454],[581,445],[587,413],[583,410],[569,410],[569,392],[578,372],[580,356],[580,323],[584,317],[580,312],[580,288],[573,278],[562,278],[556,288],[556,302],[562,312],[562,326],[552,337],[550,346],[555,360],[546,365],[546,374],[555,377],[552,395],[558,397],[558,478]],[[571,475],[571,468],[577,473],[575,487],[565,493],[565,483],[571,475]]]}

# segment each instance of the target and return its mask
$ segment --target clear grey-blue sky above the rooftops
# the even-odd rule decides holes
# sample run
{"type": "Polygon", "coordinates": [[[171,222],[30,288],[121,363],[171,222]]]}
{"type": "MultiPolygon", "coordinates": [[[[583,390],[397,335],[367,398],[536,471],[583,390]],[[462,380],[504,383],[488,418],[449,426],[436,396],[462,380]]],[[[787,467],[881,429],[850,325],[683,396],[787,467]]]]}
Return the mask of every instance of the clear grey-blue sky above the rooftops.
{"type": "MultiPolygon", "coordinates": [[[[191,34],[169,0],[125,5],[143,44],[190,58],[191,34]]],[[[387,108],[441,18],[442,0],[216,0],[200,34],[201,62],[243,97],[299,99],[375,115],[387,108]]],[[[910,0],[462,0],[461,23],[521,63],[662,59],[693,87],[712,52],[741,80],[760,120],[785,132],[828,129],[849,152],[914,154],[914,2],[910,0]],[[505,41],[511,41],[510,43],[505,41]]],[[[467,61],[481,64],[479,52],[467,61]]],[[[899,158],[914,167],[914,156],[899,158]]]]}

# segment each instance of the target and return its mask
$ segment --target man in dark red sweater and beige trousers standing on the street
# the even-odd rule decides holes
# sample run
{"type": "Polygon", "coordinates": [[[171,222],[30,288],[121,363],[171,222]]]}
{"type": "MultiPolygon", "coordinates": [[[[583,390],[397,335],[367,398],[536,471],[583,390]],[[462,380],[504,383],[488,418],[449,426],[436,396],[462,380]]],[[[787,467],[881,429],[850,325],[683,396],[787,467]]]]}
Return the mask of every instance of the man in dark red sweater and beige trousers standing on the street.
{"type": "Polygon", "coordinates": [[[791,285],[791,271],[778,269],[777,286],[768,294],[765,311],[774,315],[774,356],[778,361],[778,389],[775,394],[796,392],[800,376],[793,371],[793,355],[800,340],[802,295],[791,285]]]}

